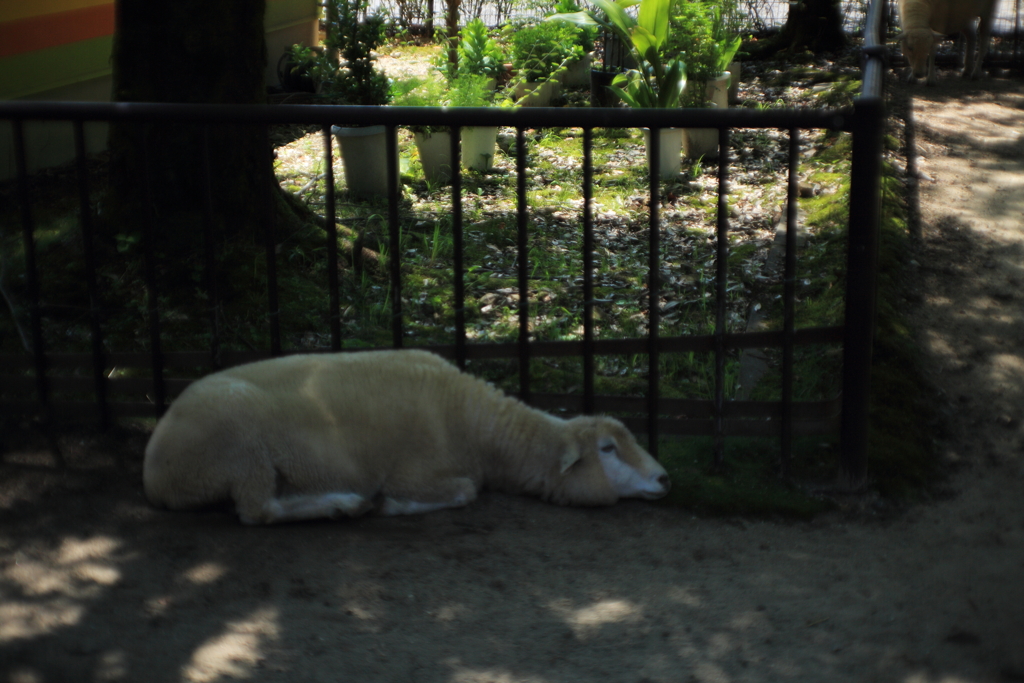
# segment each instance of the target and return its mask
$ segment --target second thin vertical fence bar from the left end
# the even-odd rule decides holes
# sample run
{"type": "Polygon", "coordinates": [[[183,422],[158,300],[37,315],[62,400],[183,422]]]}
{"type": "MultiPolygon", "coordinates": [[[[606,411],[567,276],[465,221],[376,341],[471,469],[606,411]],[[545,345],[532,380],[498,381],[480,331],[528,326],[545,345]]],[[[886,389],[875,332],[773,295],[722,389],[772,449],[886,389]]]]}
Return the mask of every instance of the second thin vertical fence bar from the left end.
{"type": "Polygon", "coordinates": [[[92,342],[92,382],[96,394],[96,410],[99,412],[99,428],[110,426],[110,408],[106,403],[106,362],[103,354],[103,338],[100,333],[99,288],[96,284],[96,254],[92,245],[92,206],[89,203],[88,168],[85,160],[85,124],[81,119],[74,122],[75,166],[78,175],[79,227],[82,230],[82,251],[85,255],[85,286],[89,293],[89,337],[92,342]]]}

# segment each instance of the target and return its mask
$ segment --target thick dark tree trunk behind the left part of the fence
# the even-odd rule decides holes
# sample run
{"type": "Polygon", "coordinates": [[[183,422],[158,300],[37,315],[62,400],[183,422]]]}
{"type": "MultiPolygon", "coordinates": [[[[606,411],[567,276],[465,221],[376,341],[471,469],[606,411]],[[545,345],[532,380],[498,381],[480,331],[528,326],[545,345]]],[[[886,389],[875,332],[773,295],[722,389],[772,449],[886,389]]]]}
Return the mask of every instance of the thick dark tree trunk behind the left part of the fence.
{"type": "MultiPolygon", "coordinates": [[[[114,99],[265,102],[264,8],[265,0],[118,0],[114,99]]],[[[260,225],[272,170],[265,129],[118,124],[110,148],[114,233],[151,220],[163,248],[182,254],[200,244],[208,204],[224,239],[260,225]]]]}

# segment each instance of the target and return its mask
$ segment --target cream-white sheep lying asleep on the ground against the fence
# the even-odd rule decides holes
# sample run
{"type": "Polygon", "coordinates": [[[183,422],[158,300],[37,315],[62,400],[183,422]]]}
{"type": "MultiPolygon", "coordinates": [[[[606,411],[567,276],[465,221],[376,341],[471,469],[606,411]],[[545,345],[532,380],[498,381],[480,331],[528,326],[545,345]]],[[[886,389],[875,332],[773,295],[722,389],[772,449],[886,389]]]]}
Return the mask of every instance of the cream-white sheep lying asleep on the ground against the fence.
{"type": "Polygon", "coordinates": [[[417,350],[291,355],[188,386],[145,449],[145,495],[233,501],[248,524],[464,506],[655,499],[669,477],[612,418],[553,417],[417,350]]]}

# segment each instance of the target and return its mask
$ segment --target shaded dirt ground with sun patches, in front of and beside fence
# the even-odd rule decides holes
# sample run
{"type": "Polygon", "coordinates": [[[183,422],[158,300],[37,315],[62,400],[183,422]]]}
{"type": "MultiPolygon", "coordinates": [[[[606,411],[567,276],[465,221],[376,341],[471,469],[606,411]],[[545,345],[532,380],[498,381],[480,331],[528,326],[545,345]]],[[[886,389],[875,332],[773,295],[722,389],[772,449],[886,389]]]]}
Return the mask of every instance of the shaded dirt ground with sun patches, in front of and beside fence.
{"type": "Polygon", "coordinates": [[[947,495],[812,522],[485,495],[246,527],[141,495],[142,432],[8,442],[0,683],[1024,681],[1024,86],[914,90],[947,495]]]}

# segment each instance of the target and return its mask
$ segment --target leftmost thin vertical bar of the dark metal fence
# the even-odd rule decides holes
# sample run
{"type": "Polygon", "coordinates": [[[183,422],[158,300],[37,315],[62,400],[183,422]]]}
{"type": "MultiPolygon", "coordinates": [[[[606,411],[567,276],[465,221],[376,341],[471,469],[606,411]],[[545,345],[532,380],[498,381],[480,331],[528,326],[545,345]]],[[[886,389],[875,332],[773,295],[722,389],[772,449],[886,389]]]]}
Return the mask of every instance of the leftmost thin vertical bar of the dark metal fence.
{"type": "Polygon", "coordinates": [[[46,350],[43,346],[43,316],[39,304],[39,273],[36,270],[35,225],[29,197],[29,165],[25,154],[25,125],[20,119],[11,121],[14,134],[14,164],[17,172],[17,195],[22,209],[22,244],[25,249],[25,278],[29,288],[29,325],[32,335],[32,359],[36,371],[36,395],[43,411],[44,422],[50,419],[50,384],[46,379],[46,350]]]}

